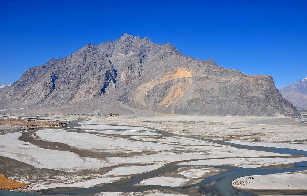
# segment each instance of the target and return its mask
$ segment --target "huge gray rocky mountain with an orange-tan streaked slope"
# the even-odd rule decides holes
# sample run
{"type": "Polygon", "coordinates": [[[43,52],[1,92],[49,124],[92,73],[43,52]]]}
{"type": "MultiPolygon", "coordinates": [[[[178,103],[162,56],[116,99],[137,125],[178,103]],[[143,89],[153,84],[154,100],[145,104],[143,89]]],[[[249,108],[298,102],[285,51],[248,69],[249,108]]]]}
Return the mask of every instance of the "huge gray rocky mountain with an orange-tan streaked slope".
{"type": "Polygon", "coordinates": [[[300,115],[270,76],[249,76],[127,34],[30,68],[0,91],[0,108],[59,106],[67,113],[300,115]]]}

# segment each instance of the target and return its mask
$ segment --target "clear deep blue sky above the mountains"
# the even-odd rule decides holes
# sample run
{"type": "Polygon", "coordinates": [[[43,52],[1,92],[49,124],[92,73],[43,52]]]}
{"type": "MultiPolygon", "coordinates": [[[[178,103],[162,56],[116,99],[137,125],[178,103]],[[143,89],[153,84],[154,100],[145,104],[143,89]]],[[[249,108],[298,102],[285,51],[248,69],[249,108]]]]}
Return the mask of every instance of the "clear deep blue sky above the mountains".
{"type": "Polygon", "coordinates": [[[0,85],[123,33],[280,88],[307,75],[307,1],[1,1],[0,85]]]}

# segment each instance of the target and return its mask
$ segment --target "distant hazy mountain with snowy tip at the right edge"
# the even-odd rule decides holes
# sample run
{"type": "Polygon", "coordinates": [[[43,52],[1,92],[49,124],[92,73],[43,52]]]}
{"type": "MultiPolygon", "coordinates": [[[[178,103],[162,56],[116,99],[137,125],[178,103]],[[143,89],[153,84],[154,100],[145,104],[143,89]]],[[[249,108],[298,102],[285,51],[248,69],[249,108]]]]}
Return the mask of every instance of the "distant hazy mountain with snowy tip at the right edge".
{"type": "Polygon", "coordinates": [[[279,89],[279,92],[283,97],[291,101],[295,107],[307,109],[307,76],[292,85],[279,89]]]}

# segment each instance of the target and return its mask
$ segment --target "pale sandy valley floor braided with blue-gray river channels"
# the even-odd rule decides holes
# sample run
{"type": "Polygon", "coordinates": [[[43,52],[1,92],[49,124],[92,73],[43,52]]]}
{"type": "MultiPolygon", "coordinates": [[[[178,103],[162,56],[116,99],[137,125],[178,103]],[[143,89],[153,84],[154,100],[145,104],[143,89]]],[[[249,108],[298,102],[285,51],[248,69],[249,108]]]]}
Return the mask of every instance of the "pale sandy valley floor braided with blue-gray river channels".
{"type": "Polygon", "coordinates": [[[0,195],[307,195],[306,113],[31,118],[69,124],[0,131],[0,195]]]}

